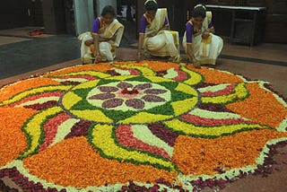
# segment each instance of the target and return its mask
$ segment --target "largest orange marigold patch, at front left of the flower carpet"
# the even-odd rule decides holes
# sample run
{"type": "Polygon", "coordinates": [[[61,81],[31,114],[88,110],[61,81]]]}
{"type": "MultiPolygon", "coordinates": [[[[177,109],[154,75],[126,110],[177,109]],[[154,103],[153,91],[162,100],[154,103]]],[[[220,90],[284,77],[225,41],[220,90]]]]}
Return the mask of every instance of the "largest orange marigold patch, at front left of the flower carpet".
{"type": "Polygon", "coordinates": [[[175,172],[152,166],[102,158],[83,136],[55,144],[23,162],[31,174],[64,187],[100,187],[126,183],[128,180],[154,182],[154,179],[159,178],[171,182],[176,177],[175,172]]]}

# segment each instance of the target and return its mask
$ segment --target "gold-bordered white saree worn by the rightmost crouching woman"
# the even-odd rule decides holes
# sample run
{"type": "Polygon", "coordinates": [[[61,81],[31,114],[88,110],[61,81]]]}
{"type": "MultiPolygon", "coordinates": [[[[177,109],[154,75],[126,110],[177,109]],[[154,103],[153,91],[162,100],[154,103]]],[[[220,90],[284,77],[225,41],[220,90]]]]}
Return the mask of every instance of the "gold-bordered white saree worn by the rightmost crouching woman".
{"type": "MultiPolygon", "coordinates": [[[[208,29],[208,23],[212,20],[212,13],[206,12],[201,32],[192,35],[192,48],[196,60],[200,64],[215,65],[217,57],[221,54],[223,48],[223,40],[217,35],[210,34],[209,38],[202,39],[202,32],[208,29]]],[[[187,50],[187,31],[183,37],[183,48],[187,50]]]]}

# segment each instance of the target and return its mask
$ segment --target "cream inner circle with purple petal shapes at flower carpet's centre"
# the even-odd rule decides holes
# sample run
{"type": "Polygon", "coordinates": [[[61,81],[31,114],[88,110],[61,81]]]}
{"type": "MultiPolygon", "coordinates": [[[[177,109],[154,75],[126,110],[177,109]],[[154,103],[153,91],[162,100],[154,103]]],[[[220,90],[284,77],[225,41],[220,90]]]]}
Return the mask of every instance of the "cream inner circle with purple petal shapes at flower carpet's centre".
{"type": "Polygon", "coordinates": [[[95,87],[87,99],[91,105],[103,109],[152,109],[170,101],[170,91],[155,83],[125,81],[95,87]]]}

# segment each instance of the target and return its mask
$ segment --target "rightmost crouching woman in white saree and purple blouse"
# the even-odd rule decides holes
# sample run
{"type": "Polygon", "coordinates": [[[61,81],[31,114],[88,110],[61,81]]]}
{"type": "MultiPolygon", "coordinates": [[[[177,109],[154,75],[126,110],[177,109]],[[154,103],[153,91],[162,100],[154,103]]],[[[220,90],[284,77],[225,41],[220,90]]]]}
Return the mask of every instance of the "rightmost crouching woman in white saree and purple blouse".
{"type": "Polygon", "coordinates": [[[212,13],[206,12],[203,4],[197,4],[192,18],[187,22],[187,31],[182,42],[187,57],[196,68],[204,64],[215,65],[216,58],[222,51],[223,40],[213,33],[212,13]]]}

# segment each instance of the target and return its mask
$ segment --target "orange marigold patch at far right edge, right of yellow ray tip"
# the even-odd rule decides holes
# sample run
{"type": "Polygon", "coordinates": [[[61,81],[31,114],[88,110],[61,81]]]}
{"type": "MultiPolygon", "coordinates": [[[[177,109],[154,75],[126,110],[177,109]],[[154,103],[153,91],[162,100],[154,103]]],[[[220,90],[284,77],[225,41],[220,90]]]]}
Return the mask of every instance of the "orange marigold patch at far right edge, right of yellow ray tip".
{"type": "Polygon", "coordinates": [[[227,108],[239,115],[269,127],[278,127],[287,117],[287,109],[274,98],[272,92],[260,88],[258,83],[247,84],[249,97],[230,103],[227,108]]]}

